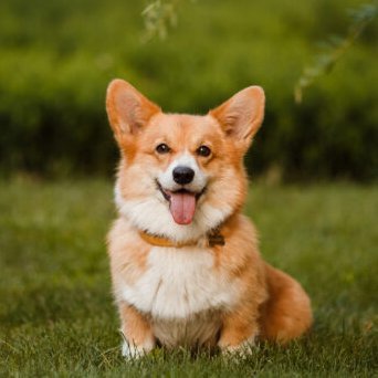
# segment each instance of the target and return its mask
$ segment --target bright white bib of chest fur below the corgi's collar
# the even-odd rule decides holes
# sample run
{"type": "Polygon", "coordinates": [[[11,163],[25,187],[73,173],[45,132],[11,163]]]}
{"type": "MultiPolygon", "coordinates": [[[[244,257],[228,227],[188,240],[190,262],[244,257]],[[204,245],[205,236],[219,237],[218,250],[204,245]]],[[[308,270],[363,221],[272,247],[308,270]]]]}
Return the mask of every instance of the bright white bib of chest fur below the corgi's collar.
{"type": "Polygon", "coordinates": [[[214,269],[210,250],[154,246],[147,269],[123,297],[153,319],[188,319],[228,309],[238,301],[237,283],[214,269]]]}

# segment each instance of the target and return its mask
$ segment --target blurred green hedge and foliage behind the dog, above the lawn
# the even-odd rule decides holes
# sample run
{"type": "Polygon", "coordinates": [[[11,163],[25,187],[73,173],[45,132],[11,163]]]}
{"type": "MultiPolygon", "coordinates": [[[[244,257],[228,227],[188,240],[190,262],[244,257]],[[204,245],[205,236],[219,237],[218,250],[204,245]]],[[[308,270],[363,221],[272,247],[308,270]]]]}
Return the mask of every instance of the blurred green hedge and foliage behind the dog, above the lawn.
{"type": "Polygon", "coordinates": [[[295,104],[316,42],[348,28],[358,0],[181,1],[177,27],[143,42],[146,2],[0,3],[0,170],[109,174],[117,151],[105,90],[123,77],[169,112],[204,113],[251,84],[266,117],[253,172],[378,178],[377,22],[295,104]]]}

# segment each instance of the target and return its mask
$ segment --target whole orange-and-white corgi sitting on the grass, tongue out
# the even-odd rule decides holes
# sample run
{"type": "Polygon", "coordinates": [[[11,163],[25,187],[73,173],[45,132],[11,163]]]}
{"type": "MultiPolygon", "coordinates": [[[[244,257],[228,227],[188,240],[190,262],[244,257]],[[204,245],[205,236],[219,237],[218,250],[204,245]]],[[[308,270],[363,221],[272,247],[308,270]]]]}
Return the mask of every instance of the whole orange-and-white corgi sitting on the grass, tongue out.
{"type": "Polygon", "coordinates": [[[127,82],[109,84],[120,162],[107,243],[125,357],[156,346],[249,350],[311,327],[307,294],[262,260],[241,213],[243,156],[264,102],[250,86],[204,116],[166,114],[127,82]]]}

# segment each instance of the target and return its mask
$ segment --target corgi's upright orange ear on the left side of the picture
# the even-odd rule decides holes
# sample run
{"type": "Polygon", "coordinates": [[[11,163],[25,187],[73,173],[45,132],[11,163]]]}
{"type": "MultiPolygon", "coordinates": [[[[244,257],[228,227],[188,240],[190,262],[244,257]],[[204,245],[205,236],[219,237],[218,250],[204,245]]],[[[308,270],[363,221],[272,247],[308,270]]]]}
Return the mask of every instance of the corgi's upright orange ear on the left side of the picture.
{"type": "Polygon", "coordinates": [[[137,135],[156,113],[161,112],[133,85],[120,78],[111,82],[106,92],[106,112],[118,144],[137,135]]]}

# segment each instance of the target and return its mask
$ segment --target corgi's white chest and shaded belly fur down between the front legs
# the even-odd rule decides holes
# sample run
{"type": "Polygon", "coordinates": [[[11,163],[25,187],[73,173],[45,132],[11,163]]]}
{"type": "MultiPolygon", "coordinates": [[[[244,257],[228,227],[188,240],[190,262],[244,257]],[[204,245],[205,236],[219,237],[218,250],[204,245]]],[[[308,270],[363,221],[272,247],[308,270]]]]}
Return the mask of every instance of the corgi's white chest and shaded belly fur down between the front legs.
{"type": "Polygon", "coordinates": [[[214,344],[219,309],[238,301],[234,282],[214,269],[210,250],[153,248],[147,270],[123,298],[151,316],[156,337],[167,346],[214,344]]]}

